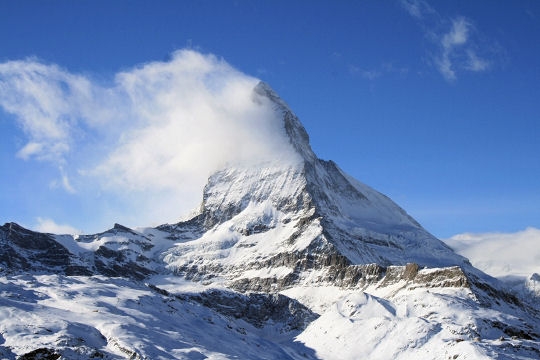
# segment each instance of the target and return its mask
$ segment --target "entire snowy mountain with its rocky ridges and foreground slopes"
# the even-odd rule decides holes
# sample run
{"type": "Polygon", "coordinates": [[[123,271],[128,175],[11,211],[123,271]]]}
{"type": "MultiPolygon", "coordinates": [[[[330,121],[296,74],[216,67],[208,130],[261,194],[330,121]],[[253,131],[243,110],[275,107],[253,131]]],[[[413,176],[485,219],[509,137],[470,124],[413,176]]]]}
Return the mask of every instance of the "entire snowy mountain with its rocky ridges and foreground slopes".
{"type": "Polygon", "coordinates": [[[537,359],[540,306],[318,159],[259,83],[294,156],[214,173],[199,211],[84,236],[0,227],[7,359],[537,359]]]}

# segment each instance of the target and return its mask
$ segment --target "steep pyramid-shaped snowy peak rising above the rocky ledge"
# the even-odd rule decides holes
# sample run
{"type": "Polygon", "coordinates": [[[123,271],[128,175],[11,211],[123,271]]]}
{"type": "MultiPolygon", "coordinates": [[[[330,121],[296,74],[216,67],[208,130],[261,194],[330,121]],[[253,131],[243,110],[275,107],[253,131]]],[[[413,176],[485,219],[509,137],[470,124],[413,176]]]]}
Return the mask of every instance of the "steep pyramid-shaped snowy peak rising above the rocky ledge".
{"type": "MultiPolygon", "coordinates": [[[[195,219],[200,230],[193,241],[167,252],[170,269],[268,291],[276,284],[275,290],[332,283],[336,276],[360,271],[352,270],[355,265],[467,265],[389,198],[318,159],[303,126],[267,85],[259,84],[254,94],[273,102],[300,160],[214,174],[195,219]]],[[[185,225],[167,229],[174,234],[185,225]]],[[[351,286],[360,273],[349,279],[351,286]]]]}

